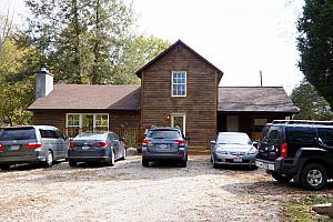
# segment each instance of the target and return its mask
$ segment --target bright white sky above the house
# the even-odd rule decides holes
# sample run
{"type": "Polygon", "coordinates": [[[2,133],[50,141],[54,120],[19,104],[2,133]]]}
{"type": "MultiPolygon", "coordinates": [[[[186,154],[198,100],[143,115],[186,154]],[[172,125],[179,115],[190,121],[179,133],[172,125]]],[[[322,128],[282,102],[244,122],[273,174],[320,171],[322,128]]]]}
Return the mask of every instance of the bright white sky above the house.
{"type": "MultiPolygon", "coordinates": [[[[0,8],[6,6],[0,0],[0,8]],[[1,6],[2,4],[2,6],[1,6]]],[[[130,0],[129,0],[130,1],[130,0]]],[[[23,0],[10,0],[16,16],[23,0]]],[[[171,43],[181,39],[224,72],[220,85],[283,85],[303,75],[297,68],[296,20],[302,0],[133,0],[137,32],[171,43]]]]}

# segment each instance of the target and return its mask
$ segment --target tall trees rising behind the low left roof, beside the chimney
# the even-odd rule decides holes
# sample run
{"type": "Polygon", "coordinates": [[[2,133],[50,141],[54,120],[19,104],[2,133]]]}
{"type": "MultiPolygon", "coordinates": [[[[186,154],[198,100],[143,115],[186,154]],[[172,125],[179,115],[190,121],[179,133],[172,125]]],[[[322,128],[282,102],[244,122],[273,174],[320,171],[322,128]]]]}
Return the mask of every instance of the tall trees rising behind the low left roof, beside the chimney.
{"type": "Polygon", "coordinates": [[[122,0],[26,0],[33,13],[28,33],[56,81],[104,83],[133,23],[122,0]]]}

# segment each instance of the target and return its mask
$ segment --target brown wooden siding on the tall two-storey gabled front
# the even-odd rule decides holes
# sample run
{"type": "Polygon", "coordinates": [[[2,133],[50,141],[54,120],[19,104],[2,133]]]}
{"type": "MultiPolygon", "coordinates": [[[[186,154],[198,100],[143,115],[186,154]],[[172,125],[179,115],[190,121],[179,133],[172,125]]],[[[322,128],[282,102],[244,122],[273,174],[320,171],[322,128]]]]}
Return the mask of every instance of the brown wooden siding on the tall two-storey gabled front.
{"type": "Polygon", "coordinates": [[[194,53],[178,46],[142,72],[142,128],[171,125],[172,113],[185,113],[190,149],[210,149],[216,134],[218,77],[194,53]],[[186,71],[186,97],[171,97],[172,71],[186,71]]]}

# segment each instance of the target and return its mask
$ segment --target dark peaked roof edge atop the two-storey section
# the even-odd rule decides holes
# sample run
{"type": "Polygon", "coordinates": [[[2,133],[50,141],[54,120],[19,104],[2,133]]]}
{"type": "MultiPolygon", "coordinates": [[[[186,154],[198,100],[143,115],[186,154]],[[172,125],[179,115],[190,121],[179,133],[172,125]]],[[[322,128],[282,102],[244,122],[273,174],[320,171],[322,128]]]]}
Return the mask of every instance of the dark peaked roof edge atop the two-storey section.
{"type": "Polygon", "coordinates": [[[216,70],[218,74],[219,74],[219,81],[221,80],[223,72],[216,68],[215,65],[213,65],[210,61],[208,61],[206,59],[204,59],[201,54],[199,54],[198,52],[195,52],[192,48],[190,48],[188,44],[185,44],[183,41],[178,40],[176,42],[174,42],[173,44],[171,44],[168,49],[165,49],[164,51],[162,51],[160,54],[158,54],[154,59],[152,59],[151,61],[149,61],[147,64],[144,64],[141,69],[139,69],[135,74],[141,78],[142,75],[142,71],[144,71],[147,68],[149,68],[150,65],[152,65],[155,61],[160,60],[162,57],[164,57],[167,53],[169,53],[171,50],[173,50],[174,48],[176,48],[178,46],[182,46],[185,49],[188,49],[190,52],[192,52],[193,54],[195,54],[195,57],[198,57],[200,60],[202,60],[204,63],[206,63],[209,67],[211,67],[212,69],[216,70]]]}

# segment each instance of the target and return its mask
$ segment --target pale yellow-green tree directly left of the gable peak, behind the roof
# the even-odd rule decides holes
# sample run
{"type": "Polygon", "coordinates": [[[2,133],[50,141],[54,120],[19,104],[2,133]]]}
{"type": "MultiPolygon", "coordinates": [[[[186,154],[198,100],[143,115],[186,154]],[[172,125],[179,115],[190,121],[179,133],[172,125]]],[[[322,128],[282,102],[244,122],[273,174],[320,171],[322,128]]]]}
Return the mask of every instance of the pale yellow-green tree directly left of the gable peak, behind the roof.
{"type": "Polygon", "coordinates": [[[152,36],[139,36],[127,40],[120,53],[120,62],[113,70],[113,79],[110,79],[109,83],[140,83],[140,79],[135,75],[135,71],[155,58],[169,46],[169,41],[152,36]]]}

